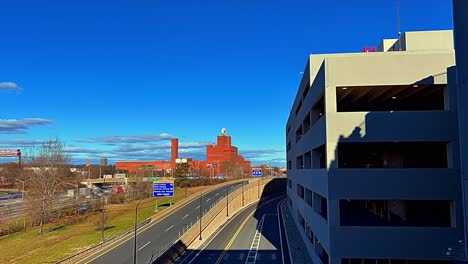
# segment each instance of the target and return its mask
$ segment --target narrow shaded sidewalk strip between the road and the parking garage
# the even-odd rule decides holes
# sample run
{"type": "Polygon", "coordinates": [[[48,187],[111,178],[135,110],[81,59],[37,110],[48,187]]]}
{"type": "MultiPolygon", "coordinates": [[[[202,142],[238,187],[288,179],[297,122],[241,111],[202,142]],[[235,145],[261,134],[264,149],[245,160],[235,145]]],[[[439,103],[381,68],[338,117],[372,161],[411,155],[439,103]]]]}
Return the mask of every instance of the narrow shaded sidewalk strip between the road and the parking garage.
{"type": "Polygon", "coordinates": [[[286,230],[287,241],[289,245],[289,253],[292,258],[292,263],[314,263],[307,251],[306,245],[302,240],[301,234],[294,224],[294,219],[286,203],[281,205],[283,213],[284,227],[286,230]]]}

